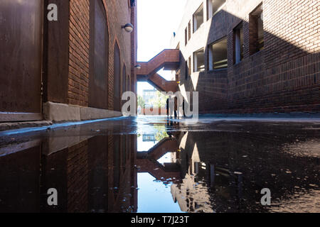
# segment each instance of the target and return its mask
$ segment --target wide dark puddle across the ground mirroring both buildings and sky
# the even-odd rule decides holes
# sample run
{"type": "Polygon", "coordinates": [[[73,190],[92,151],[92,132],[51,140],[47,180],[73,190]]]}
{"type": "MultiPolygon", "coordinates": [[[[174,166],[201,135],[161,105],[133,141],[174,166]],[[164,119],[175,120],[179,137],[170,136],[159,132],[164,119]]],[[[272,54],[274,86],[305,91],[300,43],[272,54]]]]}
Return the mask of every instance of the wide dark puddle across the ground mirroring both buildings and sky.
{"type": "Polygon", "coordinates": [[[79,126],[1,141],[0,211],[320,211],[318,131],[154,125],[138,135],[79,126]],[[50,188],[58,206],[48,206],[50,188]],[[263,188],[271,206],[260,203],[263,188]]]}

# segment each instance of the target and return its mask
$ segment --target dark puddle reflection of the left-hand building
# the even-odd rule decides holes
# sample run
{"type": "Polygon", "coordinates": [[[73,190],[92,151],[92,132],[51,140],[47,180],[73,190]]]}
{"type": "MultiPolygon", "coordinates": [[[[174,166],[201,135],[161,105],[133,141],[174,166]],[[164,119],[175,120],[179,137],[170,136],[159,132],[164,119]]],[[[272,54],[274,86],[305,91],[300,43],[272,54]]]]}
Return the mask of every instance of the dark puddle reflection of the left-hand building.
{"type": "Polygon", "coordinates": [[[136,135],[53,136],[1,148],[0,212],[137,211],[135,150],[136,135]],[[58,206],[48,206],[50,188],[58,206]]]}

